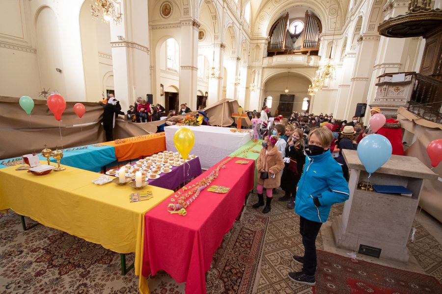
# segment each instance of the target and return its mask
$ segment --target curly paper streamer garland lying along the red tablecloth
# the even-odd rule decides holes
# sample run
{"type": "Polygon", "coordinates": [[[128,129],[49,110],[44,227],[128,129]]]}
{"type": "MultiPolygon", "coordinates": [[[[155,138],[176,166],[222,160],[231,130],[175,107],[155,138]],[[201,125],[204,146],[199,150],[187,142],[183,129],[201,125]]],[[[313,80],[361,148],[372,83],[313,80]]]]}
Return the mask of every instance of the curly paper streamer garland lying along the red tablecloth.
{"type": "Polygon", "coordinates": [[[233,157],[229,157],[223,162],[221,162],[216,169],[214,169],[208,176],[205,178],[202,178],[198,183],[193,184],[192,186],[189,186],[188,188],[183,187],[183,193],[184,191],[186,194],[181,195],[182,193],[178,191],[177,194],[175,194],[172,198],[170,198],[170,201],[172,202],[178,202],[178,203],[169,203],[167,205],[167,211],[170,212],[170,214],[177,213],[180,216],[185,216],[187,214],[186,208],[193,203],[193,201],[196,200],[198,195],[201,193],[202,190],[204,190],[206,187],[210,185],[210,183],[215,180],[219,173],[220,169],[225,168],[225,164],[228,163],[230,160],[232,160],[233,157]],[[175,199],[176,198],[176,199],[175,199]]]}

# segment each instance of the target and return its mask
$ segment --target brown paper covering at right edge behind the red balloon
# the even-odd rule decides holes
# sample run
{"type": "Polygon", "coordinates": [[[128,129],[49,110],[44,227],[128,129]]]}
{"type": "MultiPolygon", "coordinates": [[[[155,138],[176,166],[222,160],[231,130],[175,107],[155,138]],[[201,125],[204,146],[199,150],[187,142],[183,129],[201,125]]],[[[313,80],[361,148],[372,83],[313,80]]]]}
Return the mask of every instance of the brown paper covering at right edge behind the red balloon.
{"type": "MultiPolygon", "coordinates": [[[[401,126],[416,135],[416,141],[405,150],[405,155],[414,156],[431,168],[430,157],[427,153],[428,144],[442,138],[442,125],[432,123],[415,116],[404,108],[398,110],[398,121],[401,126]]],[[[441,178],[442,163],[433,172],[441,178]]],[[[424,180],[419,205],[423,210],[442,222],[442,182],[439,180],[424,180]]]]}

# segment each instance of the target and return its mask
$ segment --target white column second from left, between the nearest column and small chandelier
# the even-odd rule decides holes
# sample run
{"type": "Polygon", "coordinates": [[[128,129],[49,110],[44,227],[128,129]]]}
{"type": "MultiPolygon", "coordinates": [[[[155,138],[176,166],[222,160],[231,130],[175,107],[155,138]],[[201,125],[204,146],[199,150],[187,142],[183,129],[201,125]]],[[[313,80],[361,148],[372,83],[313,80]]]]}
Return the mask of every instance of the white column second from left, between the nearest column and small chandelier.
{"type": "Polygon", "coordinates": [[[180,96],[181,103],[196,110],[196,87],[198,83],[198,28],[193,20],[181,21],[180,96]]]}

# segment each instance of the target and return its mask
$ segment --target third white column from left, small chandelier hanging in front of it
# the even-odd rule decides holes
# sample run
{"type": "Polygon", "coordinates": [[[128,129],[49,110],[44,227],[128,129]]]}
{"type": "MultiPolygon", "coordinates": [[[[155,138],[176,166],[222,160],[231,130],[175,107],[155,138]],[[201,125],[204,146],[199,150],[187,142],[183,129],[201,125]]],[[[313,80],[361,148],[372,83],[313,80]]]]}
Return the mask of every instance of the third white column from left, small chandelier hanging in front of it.
{"type": "Polygon", "coordinates": [[[215,44],[215,61],[212,61],[209,65],[209,71],[212,66],[215,66],[220,73],[218,76],[212,77],[209,72],[209,97],[208,105],[215,103],[222,99],[222,79],[224,75],[224,50],[225,45],[223,43],[215,44]],[[214,65],[215,64],[215,65],[214,65]]]}

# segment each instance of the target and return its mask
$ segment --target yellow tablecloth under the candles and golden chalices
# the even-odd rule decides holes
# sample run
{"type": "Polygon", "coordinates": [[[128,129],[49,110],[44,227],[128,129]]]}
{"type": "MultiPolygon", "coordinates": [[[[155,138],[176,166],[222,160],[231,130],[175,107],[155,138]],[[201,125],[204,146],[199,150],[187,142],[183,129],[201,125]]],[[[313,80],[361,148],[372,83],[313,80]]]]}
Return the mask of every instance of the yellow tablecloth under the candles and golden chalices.
{"type": "Polygon", "coordinates": [[[129,195],[135,189],[114,183],[95,185],[91,181],[100,176],[96,172],[66,167],[62,172],[37,176],[16,168],[0,169],[0,210],[10,208],[118,253],[135,252],[135,273],[139,275],[144,214],[172,190],[149,185],[141,191],[152,191],[153,198],[130,203],[129,195]]]}

